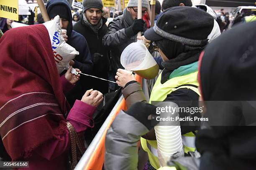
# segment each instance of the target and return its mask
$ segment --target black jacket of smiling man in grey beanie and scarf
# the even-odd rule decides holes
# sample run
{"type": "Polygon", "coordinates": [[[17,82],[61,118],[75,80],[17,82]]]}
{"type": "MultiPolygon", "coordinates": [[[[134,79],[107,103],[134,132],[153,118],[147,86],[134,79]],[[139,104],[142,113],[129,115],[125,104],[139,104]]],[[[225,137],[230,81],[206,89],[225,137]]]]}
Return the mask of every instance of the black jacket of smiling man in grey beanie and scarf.
{"type": "MultiPolygon", "coordinates": [[[[94,61],[92,75],[107,79],[109,70],[108,50],[102,44],[102,38],[107,32],[107,25],[105,24],[107,19],[102,17],[102,27],[95,33],[92,28],[84,22],[82,14],[80,15],[80,18],[81,19],[75,23],[74,30],[82,34],[88,41],[90,53],[94,61]],[[101,56],[95,56],[95,53],[98,53],[101,56]]],[[[88,89],[93,88],[94,90],[99,90],[102,94],[108,92],[108,82],[92,77],[86,77],[86,80],[87,83],[84,84],[84,86],[88,89]]]]}

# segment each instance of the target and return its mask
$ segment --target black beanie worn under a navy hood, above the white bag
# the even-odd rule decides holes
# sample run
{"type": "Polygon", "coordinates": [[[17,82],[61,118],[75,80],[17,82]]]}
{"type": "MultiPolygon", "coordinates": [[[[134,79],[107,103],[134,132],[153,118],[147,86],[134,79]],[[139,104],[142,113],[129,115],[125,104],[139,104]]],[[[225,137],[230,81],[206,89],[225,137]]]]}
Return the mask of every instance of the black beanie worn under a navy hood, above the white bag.
{"type": "Polygon", "coordinates": [[[59,15],[60,18],[69,20],[69,12],[67,7],[64,4],[56,4],[51,7],[51,10],[48,12],[50,19],[54,18],[56,15],[59,15]]]}

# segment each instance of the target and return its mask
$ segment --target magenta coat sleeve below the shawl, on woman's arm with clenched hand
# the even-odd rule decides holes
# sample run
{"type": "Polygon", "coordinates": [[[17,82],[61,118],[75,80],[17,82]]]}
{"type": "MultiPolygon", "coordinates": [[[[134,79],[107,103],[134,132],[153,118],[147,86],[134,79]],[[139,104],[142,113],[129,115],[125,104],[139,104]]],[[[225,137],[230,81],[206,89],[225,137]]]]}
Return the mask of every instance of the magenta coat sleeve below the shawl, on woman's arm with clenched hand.
{"type": "MultiPolygon", "coordinates": [[[[76,100],[74,106],[69,112],[67,121],[69,121],[78,135],[83,135],[83,131],[88,127],[92,128],[94,122],[92,120],[93,114],[96,110],[96,107],[88,105],[80,100],[76,100]]],[[[38,147],[35,152],[46,158],[47,160],[52,160],[67,149],[70,148],[70,138],[69,130],[66,128],[66,133],[63,135],[56,135],[54,139],[49,140],[40,147],[38,147]]]]}

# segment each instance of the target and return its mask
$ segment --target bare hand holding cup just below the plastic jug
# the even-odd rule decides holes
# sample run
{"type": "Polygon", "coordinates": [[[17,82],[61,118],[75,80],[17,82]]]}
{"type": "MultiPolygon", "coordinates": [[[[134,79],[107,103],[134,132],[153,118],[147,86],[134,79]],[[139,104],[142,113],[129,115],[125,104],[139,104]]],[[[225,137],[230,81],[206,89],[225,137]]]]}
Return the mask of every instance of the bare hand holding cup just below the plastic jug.
{"type": "Polygon", "coordinates": [[[135,80],[135,77],[131,72],[119,68],[115,79],[118,85],[125,87],[128,82],[135,80]]]}

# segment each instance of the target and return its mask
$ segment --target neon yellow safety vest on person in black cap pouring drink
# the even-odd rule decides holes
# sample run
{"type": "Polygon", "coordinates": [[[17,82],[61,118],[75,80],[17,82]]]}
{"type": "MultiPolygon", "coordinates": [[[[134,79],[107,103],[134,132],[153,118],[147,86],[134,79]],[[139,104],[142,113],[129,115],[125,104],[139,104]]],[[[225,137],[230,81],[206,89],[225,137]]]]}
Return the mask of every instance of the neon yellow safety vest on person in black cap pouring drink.
{"type": "MultiPolygon", "coordinates": [[[[163,101],[166,99],[167,95],[169,95],[171,92],[178,90],[180,88],[191,89],[194,92],[196,92],[198,95],[200,95],[200,93],[196,87],[193,87],[193,86],[179,87],[180,85],[186,85],[186,84],[199,86],[199,83],[197,82],[197,73],[198,73],[198,71],[190,73],[188,75],[173,77],[173,78],[167,80],[166,82],[164,82],[164,84],[161,84],[161,74],[160,74],[156,80],[156,83],[155,83],[153,89],[152,89],[149,103],[151,103],[151,101],[163,101]],[[176,88],[176,87],[178,87],[178,88],[176,88]]],[[[195,151],[195,144],[193,143],[193,145],[192,145],[192,142],[189,142],[189,141],[195,141],[194,133],[189,132],[189,133],[182,135],[182,141],[184,144],[185,153],[188,153],[189,151],[192,151],[192,152],[195,151]]],[[[153,147],[152,149],[157,150],[157,142],[156,142],[156,140],[146,140],[144,138],[141,138],[141,146],[142,146],[143,150],[145,150],[148,153],[148,158],[149,158],[150,164],[155,169],[158,169],[158,168],[160,168],[159,160],[156,157],[156,155],[154,155],[151,152],[151,150],[149,150],[147,143],[149,145],[151,145],[151,148],[153,147]]]]}

